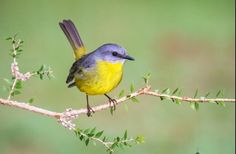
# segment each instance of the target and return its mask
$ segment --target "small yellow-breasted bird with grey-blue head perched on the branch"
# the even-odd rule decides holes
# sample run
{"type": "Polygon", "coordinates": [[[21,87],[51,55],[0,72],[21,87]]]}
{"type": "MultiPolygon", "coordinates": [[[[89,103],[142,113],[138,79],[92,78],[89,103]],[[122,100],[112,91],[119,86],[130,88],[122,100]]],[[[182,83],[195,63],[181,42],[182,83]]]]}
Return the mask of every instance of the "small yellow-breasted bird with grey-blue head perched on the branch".
{"type": "Polygon", "coordinates": [[[109,103],[117,103],[107,93],[115,89],[123,76],[123,66],[126,60],[133,61],[126,49],[116,43],[105,43],[90,53],[82,42],[75,24],[70,19],[59,22],[59,26],[66,35],[74,50],[75,61],[66,79],[68,88],[77,87],[86,94],[87,116],[94,110],[90,107],[89,96],[104,95],[109,103]]]}

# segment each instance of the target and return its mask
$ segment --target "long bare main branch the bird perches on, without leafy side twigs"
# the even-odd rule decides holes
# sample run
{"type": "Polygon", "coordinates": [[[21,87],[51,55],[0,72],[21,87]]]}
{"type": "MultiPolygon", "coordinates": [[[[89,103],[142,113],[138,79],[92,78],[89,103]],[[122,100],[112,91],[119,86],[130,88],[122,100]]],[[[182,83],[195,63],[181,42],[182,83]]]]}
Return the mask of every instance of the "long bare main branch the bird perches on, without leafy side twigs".
{"type": "MultiPolygon", "coordinates": [[[[182,102],[200,102],[200,103],[213,103],[213,102],[227,102],[227,103],[235,103],[235,99],[228,99],[228,98],[190,98],[190,97],[180,97],[180,96],[174,96],[174,95],[168,95],[168,94],[163,94],[163,93],[157,93],[151,90],[151,86],[146,86],[144,88],[140,88],[137,91],[128,94],[127,96],[124,96],[120,99],[116,99],[116,105],[120,105],[124,103],[125,101],[140,96],[140,95],[150,95],[154,97],[165,97],[169,99],[174,99],[174,100],[179,100],[182,102]]],[[[56,119],[61,119],[65,117],[71,117],[72,119],[77,118],[81,114],[87,114],[87,108],[82,108],[78,110],[72,110],[72,109],[67,109],[65,112],[54,112],[46,109],[42,109],[40,107],[36,107],[33,105],[30,105],[25,102],[17,102],[13,100],[8,100],[8,99],[2,99],[0,98],[0,104],[2,105],[7,105],[15,108],[20,108],[23,110],[27,110],[30,112],[46,115],[48,117],[56,118],[56,119]]],[[[99,112],[108,108],[113,107],[114,104],[111,104],[109,102],[102,104],[102,105],[97,105],[92,107],[92,109],[95,112],[99,112]]]]}

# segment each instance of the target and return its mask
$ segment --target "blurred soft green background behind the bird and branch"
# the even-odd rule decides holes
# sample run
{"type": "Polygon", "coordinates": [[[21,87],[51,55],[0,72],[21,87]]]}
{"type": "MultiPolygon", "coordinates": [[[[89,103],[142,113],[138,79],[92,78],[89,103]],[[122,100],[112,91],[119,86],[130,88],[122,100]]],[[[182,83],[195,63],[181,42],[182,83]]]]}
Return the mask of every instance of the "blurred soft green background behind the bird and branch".
{"type": "MultiPolygon", "coordinates": [[[[53,68],[55,78],[32,78],[23,94],[15,97],[54,111],[85,107],[85,96],[68,89],[65,79],[73,62],[72,49],[58,26],[72,19],[88,51],[103,43],[123,45],[135,62],[127,62],[123,81],[110,95],[131,83],[143,86],[141,77],[152,73],[153,89],[182,88],[192,96],[224,89],[235,95],[235,6],[234,0],[0,0],[0,86],[10,77],[5,38],[18,33],[25,41],[18,60],[23,72],[41,64],[53,68]]],[[[6,98],[2,90],[0,96],[6,98]]],[[[91,97],[102,104],[103,96],[91,97]]],[[[145,143],[118,150],[123,154],[233,154],[235,153],[235,105],[200,105],[198,112],[188,104],[175,105],[142,96],[141,103],[128,103],[116,110],[81,116],[79,127],[96,126],[108,136],[143,135],[145,143]]],[[[0,154],[105,153],[101,145],[86,147],[72,132],[54,120],[34,113],[0,106],[0,154]]]]}

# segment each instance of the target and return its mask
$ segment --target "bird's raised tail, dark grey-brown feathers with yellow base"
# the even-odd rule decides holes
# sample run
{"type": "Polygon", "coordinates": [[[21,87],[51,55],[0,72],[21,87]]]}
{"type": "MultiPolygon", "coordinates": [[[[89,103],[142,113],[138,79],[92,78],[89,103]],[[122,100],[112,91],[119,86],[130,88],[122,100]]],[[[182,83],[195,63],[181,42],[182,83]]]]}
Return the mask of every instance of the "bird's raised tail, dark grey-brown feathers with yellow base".
{"type": "Polygon", "coordinates": [[[75,59],[80,59],[85,54],[85,48],[74,23],[69,19],[63,20],[59,25],[74,50],[75,59]]]}

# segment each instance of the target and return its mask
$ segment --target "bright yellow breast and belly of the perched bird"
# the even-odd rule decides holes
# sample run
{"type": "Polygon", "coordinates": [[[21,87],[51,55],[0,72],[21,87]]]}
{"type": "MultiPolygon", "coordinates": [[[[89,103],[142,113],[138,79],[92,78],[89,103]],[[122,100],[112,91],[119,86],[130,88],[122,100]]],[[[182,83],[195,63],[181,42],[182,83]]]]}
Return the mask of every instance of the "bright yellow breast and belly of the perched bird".
{"type": "Polygon", "coordinates": [[[88,95],[100,95],[110,92],[121,81],[123,63],[98,61],[95,69],[85,72],[84,79],[75,79],[80,91],[88,95]]]}

